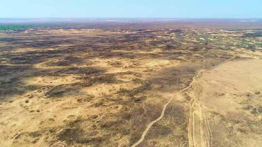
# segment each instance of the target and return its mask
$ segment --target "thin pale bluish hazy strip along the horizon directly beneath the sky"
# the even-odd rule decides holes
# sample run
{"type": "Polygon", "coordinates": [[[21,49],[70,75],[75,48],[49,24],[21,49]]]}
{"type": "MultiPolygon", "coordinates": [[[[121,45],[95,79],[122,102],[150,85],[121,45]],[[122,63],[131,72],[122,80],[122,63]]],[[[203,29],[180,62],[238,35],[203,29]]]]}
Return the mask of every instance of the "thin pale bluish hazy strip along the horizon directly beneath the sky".
{"type": "Polygon", "coordinates": [[[262,18],[164,18],[164,17],[46,17],[46,18],[0,18],[0,23],[55,23],[55,22],[261,22],[262,18]]]}

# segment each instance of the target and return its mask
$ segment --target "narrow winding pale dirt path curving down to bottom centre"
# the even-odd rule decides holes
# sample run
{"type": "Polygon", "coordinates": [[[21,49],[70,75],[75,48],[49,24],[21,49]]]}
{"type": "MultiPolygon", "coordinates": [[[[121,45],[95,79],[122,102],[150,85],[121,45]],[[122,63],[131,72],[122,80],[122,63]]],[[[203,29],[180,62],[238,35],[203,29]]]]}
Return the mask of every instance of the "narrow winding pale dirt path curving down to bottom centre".
{"type": "MultiPolygon", "coordinates": [[[[230,54],[231,54],[231,53],[230,53],[230,54]]],[[[213,67],[213,68],[210,69],[210,70],[213,70],[213,69],[217,68],[218,66],[222,65],[223,63],[227,62],[228,60],[231,60],[231,59],[234,59],[234,58],[235,58],[235,56],[233,55],[232,58],[227,59],[227,60],[224,61],[224,62],[221,62],[220,64],[218,64],[217,66],[213,67]]],[[[204,59],[204,61],[205,61],[205,59],[204,59]]],[[[204,63],[203,63],[203,65],[204,65],[204,63]]],[[[174,98],[175,96],[177,96],[178,94],[182,93],[183,91],[187,90],[188,88],[191,88],[191,87],[193,86],[193,84],[195,83],[196,79],[197,79],[198,77],[201,77],[204,71],[206,71],[206,70],[205,70],[205,69],[200,70],[200,71],[197,73],[197,75],[193,77],[193,80],[191,81],[191,83],[189,84],[189,86],[187,86],[186,88],[183,88],[183,89],[180,90],[179,92],[175,93],[175,95],[169,99],[169,101],[164,105],[160,117],[157,118],[157,119],[155,119],[155,120],[153,120],[151,123],[149,123],[149,124],[147,125],[147,128],[146,128],[146,130],[143,132],[143,134],[141,135],[140,139],[139,139],[135,144],[133,144],[131,147],[137,147],[139,144],[141,144],[141,143],[144,141],[144,139],[145,139],[145,137],[146,137],[146,135],[147,135],[147,132],[148,132],[149,129],[153,126],[153,124],[155,124],[156,122],[158,122],[159,120],[161,120],[161,119],[164,117],[165,109],[166,109],[166,107],[168,106],[168,104],[173,100],[173,98],[174,98]]],[[[199,88],[199,86],[198,86],[198,88],[199,88]]],[[[200,90],[200,92],[201,92],[201,90],[200,90]]],[[[195,102],[195,101],[194,101],[194,102],[195,102]]],[[[194,105],[194,102],[192,103],[192,105],[194,105]]],[[[192,105],[190,106],[190,115],[192,115],[192,111],[193,111],[192,109],[194,109],[194,107],[192,107],[192,105]]],[[[200,114],[200,113],[198,113],[198,114],[200,114]]],[[[193,116],[193,119],[192,119],[192,117],[189,117],[189,119],[190,119],[190,120],[193,120],[193,124],[195,124],[195,123],[194,123],[194,116],[193,116]]],[[[190,126],[191,126],[190,121],[189,121],[189,124],[190,124],[190,126]]],[[[198,124],[198,125],[199,125],[199,124],[198,124]]],[[[193,128],[188,127],[188,130],[191,130],[191,129],[194,130],[194,127],[193,127],[193,128]]],[[[193,132],[195,132],[195,131],[193,131],[193,132]]],[[[188,133],[191,134],[192,132],[191,132],[191,131],[188,131],[188,133]]],[[[201,132],[201,134],[203,134],[203,133],[204,133],[204,132],[201,132]]],[[[209,132],[209,133],[210,133],[210,132],[209,132]]],[[[190,136],[192,136],[192,135],[190,135],[190,134],[188,134],[188,136],[189,136],[189,142],[188,142],[189,147],[197,147],[197,146],[193,146],[194,143],[192,143],[192,142],[194,142],[194,139],[190,137],[190,136]]],[[[197,135],[197,134],[195,134],[194,136],[196,137],[196,135],[197,135]]],[[[201,142],[201,144],[206,144],[205,142],[206,142],[206,140],[205,140],[204,142],[201,142]]],[[[200,147],[201,147],[201,146],[200,146],[200,147]]],[[[203,146],[203,147],[207,147],[207,146],[203,146]]],[[[208,146],[208,147],[209,147],[209,146],[208,146]]]]}

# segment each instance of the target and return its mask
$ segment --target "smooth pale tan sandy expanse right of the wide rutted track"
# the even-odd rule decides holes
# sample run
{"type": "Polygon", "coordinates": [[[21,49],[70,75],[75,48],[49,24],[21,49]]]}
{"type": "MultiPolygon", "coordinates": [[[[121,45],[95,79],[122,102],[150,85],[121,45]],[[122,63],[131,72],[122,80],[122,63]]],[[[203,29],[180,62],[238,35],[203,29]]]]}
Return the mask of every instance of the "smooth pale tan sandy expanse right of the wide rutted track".
{"type": "MultiPolygon", "coordinates": [[[[197,83],[202,89],[200,106],[194,111],[198,111],[195,119],[202,124],[196,126],[195,132],[209,133],[206,147],[259,147],[262,144],[261,65],[260,59],[229,61],[203,73],[197,83]]],[[[204,147],[199,144],[194,147],[198,146],[204,147]]]]}

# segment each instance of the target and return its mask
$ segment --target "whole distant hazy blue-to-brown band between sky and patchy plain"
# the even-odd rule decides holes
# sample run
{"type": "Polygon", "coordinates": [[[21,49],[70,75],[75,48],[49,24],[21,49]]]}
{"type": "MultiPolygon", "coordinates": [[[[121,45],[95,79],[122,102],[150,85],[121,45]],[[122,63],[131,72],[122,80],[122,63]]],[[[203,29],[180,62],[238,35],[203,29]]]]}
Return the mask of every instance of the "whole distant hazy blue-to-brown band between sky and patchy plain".
{"type": "Polygon", "coordinates": [[[262,29],[262,19],[188,18],[0,18],[0,26],[50,29],[262,29]]]}

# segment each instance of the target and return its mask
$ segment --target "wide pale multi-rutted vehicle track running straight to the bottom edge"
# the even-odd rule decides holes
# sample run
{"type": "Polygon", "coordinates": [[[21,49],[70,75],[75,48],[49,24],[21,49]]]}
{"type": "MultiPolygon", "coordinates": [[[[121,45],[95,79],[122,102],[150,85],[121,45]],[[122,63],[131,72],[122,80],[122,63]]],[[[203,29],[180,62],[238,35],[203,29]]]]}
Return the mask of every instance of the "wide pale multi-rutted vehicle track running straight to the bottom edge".
{"type": "MultiPolygon", "coordinates": [[[[223,63],[234,59],[235,56],[230,59],[227,59],[224,62],[216,65],[215,67],[207,70],[202,70],[201,74],[204,71],[213,70],[223,63]]],[[[205,61],[205,60],[204,60],[205,61]]],[[[204,63],[203,63],[204,64],[204,63]]],[[[205,98],[204,93],[202,93],[201,86],[201,76],[198,76],[197,80],[192,81],[193,91],[191,96],[193,98],[193,103],[190,105],[190,114],[189,114],[189,124],[188,124],[188,141],[189,147],[212,147],[213,144],[213,135],[209,125],[209,119],[207,112],[202,107],[202,100],[205,98]]]]}

